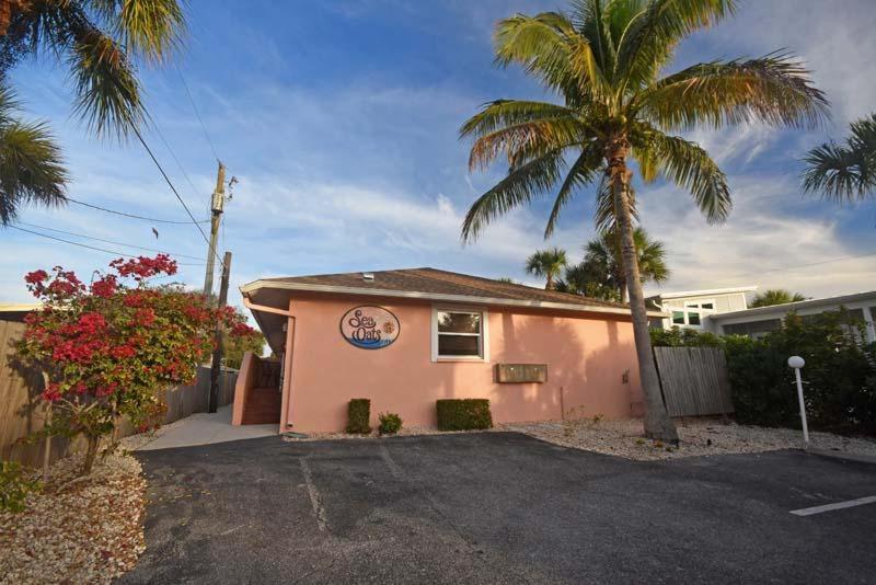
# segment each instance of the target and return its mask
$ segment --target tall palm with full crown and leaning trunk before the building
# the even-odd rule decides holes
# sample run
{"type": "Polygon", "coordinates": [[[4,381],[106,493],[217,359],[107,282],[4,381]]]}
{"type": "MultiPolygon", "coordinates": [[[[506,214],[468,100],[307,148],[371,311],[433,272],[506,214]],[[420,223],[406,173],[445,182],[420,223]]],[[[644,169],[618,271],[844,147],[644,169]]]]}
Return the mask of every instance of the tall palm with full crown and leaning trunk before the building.
{"type": "Polygon", "coordinates": [[[693,196],[710,222],[730,211],[725,174],[696,144],[671,133],[748,121],[815,125],[827,100],[788,54],[714,60],[660,77],[678,43],[733,13],[733,0],[578,0],[569,14],[516,14],[494,36],[496,60],[520,64],[562,103],[499,100],[460,129],[473,138],[469,164],[500,154],[509,171],[474,202],[462,225],[473,240],[504,213],[557,187],[545,236],[563,207],[597,183],[598,208],[618,222],[633,329],[645,393],[645,434],[678,440],[660,397],[636,264],[631,209],[633,170],[662,176],[693,196]]]}

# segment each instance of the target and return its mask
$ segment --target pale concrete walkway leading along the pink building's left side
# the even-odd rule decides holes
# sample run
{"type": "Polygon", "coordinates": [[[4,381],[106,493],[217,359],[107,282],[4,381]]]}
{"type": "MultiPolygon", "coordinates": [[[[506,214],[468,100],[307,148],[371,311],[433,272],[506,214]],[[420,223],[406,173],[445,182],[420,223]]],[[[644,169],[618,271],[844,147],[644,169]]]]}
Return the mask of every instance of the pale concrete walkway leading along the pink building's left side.
{"type": "Polygon", "coordinates": [[[186,418],[164,425],[155,433],[134,435],[123,440],[123,446],[131,451],[151,451],[175,447],[193,447],[247,438],[267,437],[277,434],[276,424],[241,425],[231,424],[231,405],[221,406],[216,413],[200,412],[186,418]]]}

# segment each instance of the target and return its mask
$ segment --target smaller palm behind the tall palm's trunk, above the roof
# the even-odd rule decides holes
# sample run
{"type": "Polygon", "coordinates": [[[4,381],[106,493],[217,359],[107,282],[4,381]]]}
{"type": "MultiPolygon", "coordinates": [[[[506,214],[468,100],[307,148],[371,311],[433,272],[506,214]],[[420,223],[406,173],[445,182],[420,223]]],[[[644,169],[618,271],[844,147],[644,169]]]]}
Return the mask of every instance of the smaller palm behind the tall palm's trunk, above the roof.
{"type": "MultiPolygon", "coordinates": [[[[644,228],[633,230],[633,243],[636,250],[636,263],[642,284],[665,283],[669,279],[669,266],[666,264],[664,243],[652,240],[644,228]]],[[[608,282],[618,289],[618,297],[624,302],[626,297],[626,273],[621,257],[621,241],[616,230],[603,231],[602,234],[587,242],[584,246],[584,261],[604,266],[608,282]]]]}

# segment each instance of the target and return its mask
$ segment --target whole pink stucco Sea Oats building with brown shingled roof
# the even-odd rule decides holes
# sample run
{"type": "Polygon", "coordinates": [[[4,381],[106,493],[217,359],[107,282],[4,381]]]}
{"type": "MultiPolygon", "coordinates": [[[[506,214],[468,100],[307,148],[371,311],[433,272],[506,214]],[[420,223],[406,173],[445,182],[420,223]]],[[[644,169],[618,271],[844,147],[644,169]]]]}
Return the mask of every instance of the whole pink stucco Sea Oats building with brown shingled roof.
{"type": "Polygon", "coordinates": [[[234,424],[341,431],[351,398],[371,399],[373,424],[395,412],[406,426],[434,426],[442,398],[489,399],[496,423],[642,411],[622,305],[434,268],[266,278],[241,292],[279,359],[244,360],[234,424]]]}

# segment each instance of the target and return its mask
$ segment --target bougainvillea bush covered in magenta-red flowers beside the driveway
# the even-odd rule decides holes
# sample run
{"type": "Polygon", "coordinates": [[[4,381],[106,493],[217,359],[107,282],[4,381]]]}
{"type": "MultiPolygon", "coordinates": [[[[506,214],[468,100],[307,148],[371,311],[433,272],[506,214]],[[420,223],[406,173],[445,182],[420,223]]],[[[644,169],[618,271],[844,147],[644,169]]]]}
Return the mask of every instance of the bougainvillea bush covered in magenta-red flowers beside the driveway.
{"type": "Polygon", "coordinates": [[[192,383],[217,323],[231,335],[255,335],[232,307],[149,284],[175,273],[176,262],[158,254],[115,260],[90,284],[60,266],[25,276],[43,309],[27,317],[19,356],[46,377],[42,398],[51,422],[44,433],[88,440],[83,473],[124,417],[141,431],[158,426],[166,389],[192,383]]]}

